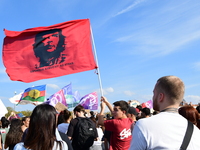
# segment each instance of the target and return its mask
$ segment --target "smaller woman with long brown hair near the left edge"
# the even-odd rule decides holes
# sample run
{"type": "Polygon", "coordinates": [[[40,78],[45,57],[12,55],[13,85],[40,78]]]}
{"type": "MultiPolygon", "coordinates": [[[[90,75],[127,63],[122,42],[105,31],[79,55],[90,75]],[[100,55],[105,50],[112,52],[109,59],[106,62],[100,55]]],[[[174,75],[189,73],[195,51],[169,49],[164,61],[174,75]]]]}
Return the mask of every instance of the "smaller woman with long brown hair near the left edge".
{"type": "Polygon", "coordinates": [[[13,150],[15,145],[21,141],[22,135],[23,131],[21,129],[21,120],[12,119],[10,129],[6,134],[4,148],[8,148],[8,150],[13,150]]]}

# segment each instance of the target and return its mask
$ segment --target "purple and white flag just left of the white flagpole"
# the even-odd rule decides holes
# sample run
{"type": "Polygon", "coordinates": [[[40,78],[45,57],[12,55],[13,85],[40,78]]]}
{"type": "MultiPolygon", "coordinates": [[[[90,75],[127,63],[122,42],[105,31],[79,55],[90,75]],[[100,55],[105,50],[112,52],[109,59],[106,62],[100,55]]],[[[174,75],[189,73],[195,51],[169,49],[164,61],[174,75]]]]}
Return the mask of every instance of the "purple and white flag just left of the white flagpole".
{"type": "Polygon", "coordinates": [[[84,97],[81,98],[79,104],[82,105],[85,109],[97,110],[98,109],[97,93],[93,92],[85,95],[84,97]]]}

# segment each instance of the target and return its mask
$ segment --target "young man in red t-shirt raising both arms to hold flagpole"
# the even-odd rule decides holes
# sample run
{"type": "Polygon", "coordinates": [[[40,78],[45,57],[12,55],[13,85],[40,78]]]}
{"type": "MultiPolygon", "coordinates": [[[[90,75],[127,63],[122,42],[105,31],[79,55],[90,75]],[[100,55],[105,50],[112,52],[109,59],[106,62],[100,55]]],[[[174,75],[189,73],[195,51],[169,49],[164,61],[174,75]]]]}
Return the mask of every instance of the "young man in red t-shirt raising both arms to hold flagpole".
{"type": "Polygon", "coordinates": [[[126,116],[129,108],[128,103],[126,101],[116,101],[113,103],[113,108],[105,97],[102,96],[101,101],[98,123],[105,126],[105,130],[112,132],[109,150],[128,150],[131,142],[131,124],[133,123],[133,120],[126,116]],[[104,121],[106,105],[112,112],[114,119],[104,121]]]}

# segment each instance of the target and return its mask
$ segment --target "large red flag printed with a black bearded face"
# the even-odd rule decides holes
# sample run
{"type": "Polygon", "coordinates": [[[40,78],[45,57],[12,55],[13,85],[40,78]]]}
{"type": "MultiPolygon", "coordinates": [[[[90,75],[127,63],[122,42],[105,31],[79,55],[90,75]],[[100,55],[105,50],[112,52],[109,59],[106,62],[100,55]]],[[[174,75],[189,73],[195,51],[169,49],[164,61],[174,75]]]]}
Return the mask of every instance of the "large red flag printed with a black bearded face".
{"type": "Polygon", "coordinates": [[[4,32],[3,62],[11,80],[33,82],[97,68],[89,19],[4,32]]]}

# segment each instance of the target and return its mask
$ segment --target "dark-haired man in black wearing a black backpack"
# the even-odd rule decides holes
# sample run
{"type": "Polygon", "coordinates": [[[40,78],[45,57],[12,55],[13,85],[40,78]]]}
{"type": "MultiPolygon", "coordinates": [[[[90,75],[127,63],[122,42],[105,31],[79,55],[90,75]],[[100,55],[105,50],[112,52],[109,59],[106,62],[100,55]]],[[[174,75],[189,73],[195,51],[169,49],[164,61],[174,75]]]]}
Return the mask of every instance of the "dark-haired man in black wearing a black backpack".
{"type": "MultiPolygon", "coordinates": [[[[80,133],[78,133],[79,130],[78,130],[77,125],[78,125],[79,121],[84,121],[84,120],[82,120],[83,118],[88,119],[88,121],[90,121],[93,124],[94,136],[95,136],[95,138],[98,137],[95,123],[90,118],[86,118],[84,114],[85,114],[84,107],[81,105],[76,106],[74,108],[74,115],[76,116],[76,118],[72,119],[69,124],[67,135],[68,135],[69,139],[72,140],[72,147],[74,150],[89,150],[89,148],[90,148],[90,147],[83,147],[83,146],[78,145],[79,141],[77,139],[78,138],[77,135],[80,133]],[[79,118],[80,118],[80,120],[79,120],[79,118]]],[[[89,138],[89,139],[91,139],[91,138],[89,138]]]]}

